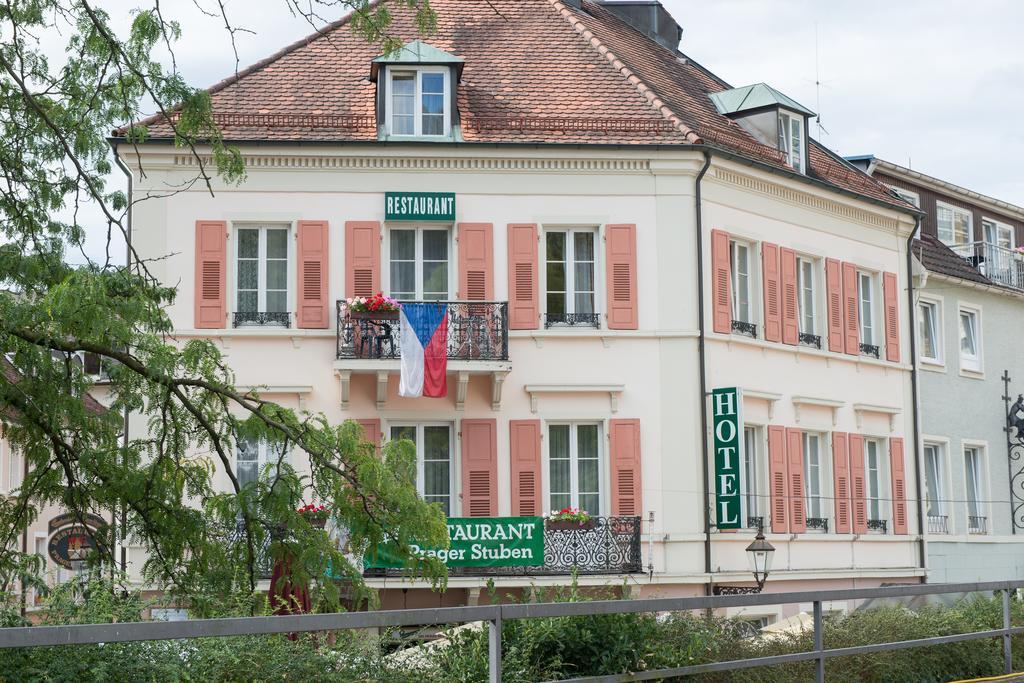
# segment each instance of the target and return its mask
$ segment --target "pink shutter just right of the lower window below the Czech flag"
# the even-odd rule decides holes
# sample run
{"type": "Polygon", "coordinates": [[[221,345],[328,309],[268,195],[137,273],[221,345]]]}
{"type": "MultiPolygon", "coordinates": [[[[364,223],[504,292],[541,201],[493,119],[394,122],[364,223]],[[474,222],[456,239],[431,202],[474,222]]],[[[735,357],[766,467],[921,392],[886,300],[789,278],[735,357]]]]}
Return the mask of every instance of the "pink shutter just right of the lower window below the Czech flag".
{"type": "Polygon", "coordinates": [[[462,515],[498,514],[498,421],[462,421],[462,515]]]}

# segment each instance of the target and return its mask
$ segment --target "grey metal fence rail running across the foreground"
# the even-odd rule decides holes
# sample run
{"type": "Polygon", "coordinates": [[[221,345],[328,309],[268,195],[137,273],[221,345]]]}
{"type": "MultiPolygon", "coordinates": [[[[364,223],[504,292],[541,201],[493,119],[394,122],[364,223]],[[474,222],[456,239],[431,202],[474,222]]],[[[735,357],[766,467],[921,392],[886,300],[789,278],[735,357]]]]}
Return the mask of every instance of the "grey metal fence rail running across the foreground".
{"type": "MultiPolygon", "coordinates": [[[[1001,638],[1004,668],[1011,673],[1011,636],[1024,633],[1024,627],[1014,627],[1010,617],[1011,591],[1024,588],[1024,581],[1004,581],[972,584],[921,584],[889,586],[885,588],[858,588],[834,591],[802,591],[793,593],[760,593],[755,595],[726,595],[694,598],[660,598],[651,600],[595,600],[590,602],[548,602],[526,604],[484,605],[476,607],[440,607],[437,609],[403,609],[367,612],[341,612],[331,614],[299,614],[294,616],[243,616],[233,618],[195,620],[187,622],[133,622],[123,624],[87,624],[79,626],[17,627],[0,629],[0,648],[41,647],[51,645],[85,645],[142,640],[169,640],[176,638],[211,638],[252,636],[344,629],[373,629],[394,626],[423,626],[486,622],[489,641],[489,681],[499,683],[502,671],[502,623],[512,620],[553,616],[588,616],[594,614],[622,614],[636,612],[672,612],[697,609],[719,609],[756,605],[811,603],[814,617],[814,646],[805,652],[772,656],[733,659],[709,664],[659,669],[643,672],[624,672],[611,676],[571,679],[577,683],[620,683],[623,681],[650,681],[673,676],[688,676],[717,671],[734,671],[769,667],[792,661],[815,661],[815,680],[824,681],[825,659],[852,654],[869,654],[887,650],[907,649],[945,643],[964,642],[983,638],[1001,638]],[[867,600],[901,598],[948,593],[1000,593],[1002,599],[1002,628],[989,631],[873,643],[855,647],[825,649],[822,631],[822,602],[836,600],[867,600]]],[[[563,682],[564,683],[564,682],[563,682]]]]}

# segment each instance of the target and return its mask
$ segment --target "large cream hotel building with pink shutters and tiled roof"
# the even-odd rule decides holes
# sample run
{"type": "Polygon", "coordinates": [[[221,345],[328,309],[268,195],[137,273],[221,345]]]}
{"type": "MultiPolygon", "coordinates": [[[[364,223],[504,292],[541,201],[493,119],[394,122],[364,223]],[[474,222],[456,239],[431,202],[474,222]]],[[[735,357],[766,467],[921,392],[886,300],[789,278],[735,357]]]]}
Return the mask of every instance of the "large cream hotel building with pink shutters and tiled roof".
{"type": "MultiPolygon", "coordinates": [[[[212,87],[241,185],[189,185],[173,118],[137,151],[113,140],[132,244],[180,283],[178,339],[215,341],[284,404],[411,439],[453,518],[594,518],[548,524],[543,562],[453,567],[441,596],[369,568],[384,604],[573,570],[701,594],[751,582],[759,527],[765,590],[919,581],[916,211],[811,139],[792,98],[728,94],[656,3],[432,6],[426,36],[394,8],[394,53],[341,19],[212,87]],[[429,382],[401,378],[398,315],[351,309],[377,292],[407,316],[445,302],[429,382]],[[443,395],[410,395],[428,384],[443,395]],[[706,395],[729,387],[742,415],[716,463],[706,395]]],[[[240,447],[243,480],[276,455],[240,447]]]]}

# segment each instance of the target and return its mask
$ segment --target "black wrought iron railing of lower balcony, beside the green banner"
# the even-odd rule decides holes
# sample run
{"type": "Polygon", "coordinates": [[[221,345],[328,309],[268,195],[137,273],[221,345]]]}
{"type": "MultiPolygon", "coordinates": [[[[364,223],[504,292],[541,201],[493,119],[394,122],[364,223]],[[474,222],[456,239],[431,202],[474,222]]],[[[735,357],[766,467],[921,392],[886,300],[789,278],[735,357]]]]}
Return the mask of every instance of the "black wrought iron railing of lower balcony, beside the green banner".
{"type": "MultiPolygon", "coordinates": [[[[544,529],[544,566],[451,567],[452,577],[620,574],[643,571],[640,517],[593,517],[580,528],[544,529]]],[[[391,577],[400,569],[367,569],[365,577],[391,577]]]]}

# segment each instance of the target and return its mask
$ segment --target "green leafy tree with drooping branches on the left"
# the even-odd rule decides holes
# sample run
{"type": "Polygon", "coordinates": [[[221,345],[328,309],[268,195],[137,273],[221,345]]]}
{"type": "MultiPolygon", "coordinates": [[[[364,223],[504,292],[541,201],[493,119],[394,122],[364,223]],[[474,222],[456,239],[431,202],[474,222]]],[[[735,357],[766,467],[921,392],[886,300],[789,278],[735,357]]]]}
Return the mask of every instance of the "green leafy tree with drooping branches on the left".
{"type": "MultiPolygon", "coordinates": [[[[233,45],[245,29],[224,3],[197,3],[233,45]]],[[[414,13],[421,32],[432,29],[428,0],[389,4],[414,13]]],[[[335,604],[335,582],[323,580],[329,569],[359,585],[346,548],[404,548],[414,538],[443,544],[443,515],[417,496],[408,444],[378,454],[354,423],[331,424],[242,392],[213,343],[172,338],[165,307],[176,292],[131,249],[131,207],[109,182],[106,136],[127,126],[130,142],[145,142],[145,126],[132,122],[156,111],[171,122],[176,145],[195,156],[194,183],[212,193],[213,177],[242,183],[246,174],[243,155],[217,129],[208,93],[178,72],[182,34],[168,9],[160,0],[136,8],[118,35],[91,0],[0,2],[0,419],[28,462],[15,495],[0,499],[0,588],[38,570],[14,549],[38,511],[55,504],[80,519],[116,511],[114,525],[92,531],[97,566],[118,566],[113,549],[130,539],[147,552],[147,580],[187,594],[194,606],[203,596],[252,594],[267,547],[291,556],[296,579],[312,580],[318,599],[335,604]],[[44,48],[52,53],[56,37],[63,50],[54,59],[44,48]],[[199,145],[212,150],[212,168],[199,145]],[[86,225],[87,210],[102,216],[98,225],[86,225]],[[105,229],[105,258],[85,255],[87,227],[105,229]],[[127,263],[113,254],[121,241],[127,263]],[[85,261],[73,265],[69,254],[77,252],[85,261]],[[86,397],[92,385],[75,361],[79,352],[101,358],[106,411],[86,397]],[[125,415],[144,429],[125,434],[125,415]],[[241,486],[231,454],[242,437],[305,454],[308,473],[281,463],[272,477],[241,486]],[[215,485],[217,471],[229,490],[215,485]],[[346,529],[346,548],[296,512],[313,497],[346,529]]],[[[351,30],[382,51],[399,44],[384,3],[285,0],[281,10],[313,27],[326,20],[318,12],[350,10],[351,30]]],[[[443,581],[436,562],[408,562],[443,581]]]]}

